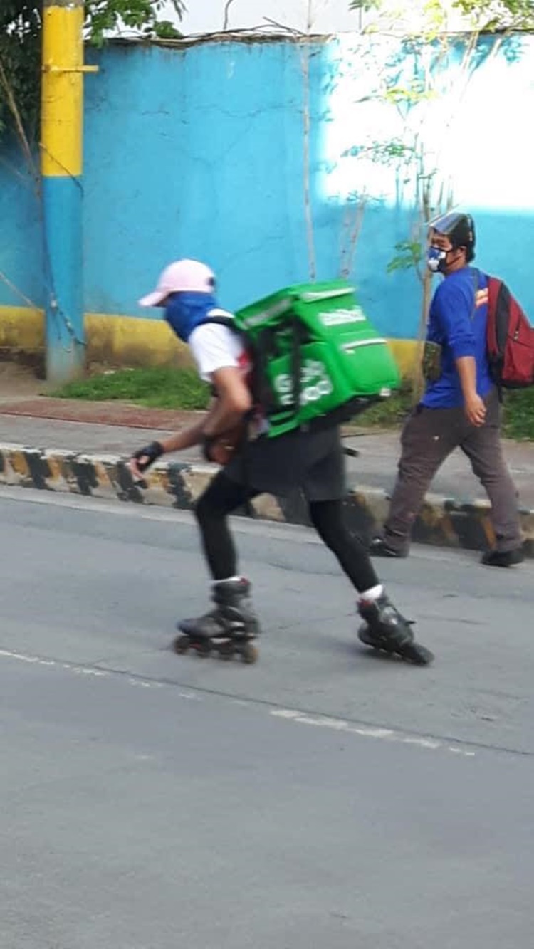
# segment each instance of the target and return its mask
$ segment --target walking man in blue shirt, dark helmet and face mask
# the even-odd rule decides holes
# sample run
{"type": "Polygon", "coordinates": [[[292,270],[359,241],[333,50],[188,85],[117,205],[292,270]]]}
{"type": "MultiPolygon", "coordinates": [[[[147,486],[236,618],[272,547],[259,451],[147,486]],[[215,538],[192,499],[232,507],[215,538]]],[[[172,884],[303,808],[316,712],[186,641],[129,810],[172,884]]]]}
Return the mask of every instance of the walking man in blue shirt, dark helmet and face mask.
{"type": "Polygon", "coordinates": [[[475,233],[470,214],[452,212],[431,224],[430,270],[445,278],[430,308],[425,394],[401,436],[396,487],[383,533],[371,554],[405,557],[410,534],[434,474],[461,448],[491,502],[495,547],[482,563],[511,567],[524,559],[517,492],[501,443],[501,404],[486,344],[488,276],[470,267],[475,233]]]}

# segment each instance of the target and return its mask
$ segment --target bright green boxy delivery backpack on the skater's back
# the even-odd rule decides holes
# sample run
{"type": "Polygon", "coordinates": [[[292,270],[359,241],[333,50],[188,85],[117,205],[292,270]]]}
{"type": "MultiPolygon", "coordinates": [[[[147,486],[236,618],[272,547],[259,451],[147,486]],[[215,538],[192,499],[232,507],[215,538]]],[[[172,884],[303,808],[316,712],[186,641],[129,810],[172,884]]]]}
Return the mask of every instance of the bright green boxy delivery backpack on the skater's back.
{"type": "Polygon", "coordinates": [[[388,344],[343,280],[273,293],[238,310],[234,328],[251,354],[269,437],[337,425],[398,387],[388,344]]]}

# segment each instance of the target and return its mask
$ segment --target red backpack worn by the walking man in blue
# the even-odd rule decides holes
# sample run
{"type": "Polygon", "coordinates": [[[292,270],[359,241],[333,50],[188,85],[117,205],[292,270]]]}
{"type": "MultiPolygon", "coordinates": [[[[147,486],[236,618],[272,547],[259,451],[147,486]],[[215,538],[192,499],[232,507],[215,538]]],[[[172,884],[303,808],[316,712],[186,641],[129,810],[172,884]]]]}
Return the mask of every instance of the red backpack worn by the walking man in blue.
{"type": "Polygon", "coordinates": [[[534,329],[497,277],[488,277],[487,341],[491,376],[499,388],[534,385],[534,329]]]}

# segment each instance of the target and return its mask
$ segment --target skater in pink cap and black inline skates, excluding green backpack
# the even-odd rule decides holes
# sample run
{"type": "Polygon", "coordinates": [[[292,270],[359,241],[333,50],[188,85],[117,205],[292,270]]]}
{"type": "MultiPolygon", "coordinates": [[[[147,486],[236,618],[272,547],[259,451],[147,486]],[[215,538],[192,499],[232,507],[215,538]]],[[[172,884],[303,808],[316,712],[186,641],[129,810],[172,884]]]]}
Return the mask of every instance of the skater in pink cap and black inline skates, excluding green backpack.
{"type": "Polygon", "coordinates": [[[158,457],[193,445],[201,445],[208,460],[223,466],[195,507],[212,574],[214,606],[198,619],[177,624],[180,636],[175,649],[191,647],[208,654],[215,648],[221,654],[237,652],[245,661],[255,660],[252,643],[260,627],[249,581],[238,572],[228,517],[259,493],[285,495],[301,488],[311,523],[358,591],[364,621],[360,640],[418,664],[432,661],[432,653],[414,642],[411,624],[388,598],[364,544],[345,526],[339,428],[300,428],[266,437],[267,419],[261,406],[253,405],[249,387],[248,352],[243,339],[223,325],[232,317],[218,307],[214,289],[214,275],[206,265],[179,260],[162,272],[157,289],[139,301],[146,307],[165,307],[167,321],[190,346],[198,374],[211,383],[215,398],[207,414],[192,426],[139,449],[129,462],[133,476],[141,480],[158,457]],[[218,319],[222,322],[210,322],[218,319]]]}

